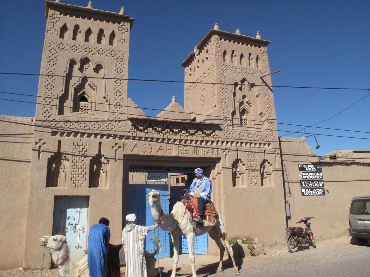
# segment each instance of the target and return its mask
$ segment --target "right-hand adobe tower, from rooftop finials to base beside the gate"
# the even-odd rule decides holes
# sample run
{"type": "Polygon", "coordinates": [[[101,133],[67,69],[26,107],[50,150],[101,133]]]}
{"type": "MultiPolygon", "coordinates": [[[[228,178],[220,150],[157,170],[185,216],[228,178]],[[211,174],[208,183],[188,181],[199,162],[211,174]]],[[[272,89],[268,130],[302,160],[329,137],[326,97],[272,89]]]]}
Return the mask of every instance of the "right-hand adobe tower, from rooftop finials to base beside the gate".
{"type": "Polygon", "coordinates": [[[285,208],[271,79],[260,78],[270,72],[269,43],[216,24],[182,66],[185,81],[195,82],[185,83],[185,110],[219,124],[228,141],[217,165],[218,210],[228,233],[275,242],[279,235],[268,230],[285,228],[285,208]]]}

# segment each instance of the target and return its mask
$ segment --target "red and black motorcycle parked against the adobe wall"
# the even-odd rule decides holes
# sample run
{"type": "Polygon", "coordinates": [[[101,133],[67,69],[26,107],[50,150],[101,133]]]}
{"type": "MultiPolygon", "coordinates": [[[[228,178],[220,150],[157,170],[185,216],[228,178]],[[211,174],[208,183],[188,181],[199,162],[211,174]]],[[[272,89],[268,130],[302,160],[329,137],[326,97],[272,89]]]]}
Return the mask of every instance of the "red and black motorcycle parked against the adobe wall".
{"type": "Polygon", "coordinates": [[[306,229],[300,227],[288,227],[285,228],[286,235],[285,241],[287,241],[287,246],[290,252],[294,253],[298,251],[300,245],[311,244],[313,248],[316,248],[315,239],[313,238],[313,233],[311,230],[311,223],[307,223],[312,217],[302,218],[297,223],[305,223],[306,229]]]}

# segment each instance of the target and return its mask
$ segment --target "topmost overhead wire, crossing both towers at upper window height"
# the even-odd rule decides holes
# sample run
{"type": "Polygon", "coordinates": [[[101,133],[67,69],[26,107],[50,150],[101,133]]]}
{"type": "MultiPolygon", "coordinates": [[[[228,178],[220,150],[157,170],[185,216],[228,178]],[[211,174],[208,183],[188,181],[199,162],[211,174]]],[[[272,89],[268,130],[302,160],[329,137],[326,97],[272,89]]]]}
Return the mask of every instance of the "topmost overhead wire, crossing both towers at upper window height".
{"type": "MultiPolygon", "coordinates": [[[[57,75],[57,74],[41,74],[41,73],[17,73],[17,72],[0,72],[7,75],[23,75],[23,76],[46,76],[46,77],[77,77],[72,75],[57,75]]],[[[192,83],[192,84],[209,84],[209,85],[235,85],[235,83],[215,83],[215,82],[195,82],[195,81],[172,81],[172,80],[155,80],[155,79],[132,79],[132,78],[112,78],[112,77],[88,77],[90,79],[107,79],[107,80],[124,80],[124,81],[140,81],[140,82],[165,82],[165,83],[192,83]]],[[[256,85],[256,84],[238,84],[240,86],[269,86],[274,88],[295,88],[295,89],[340,89],[340,90],[369,90],[364,88],[327,88],[314,86],[280,86],[280,85],[256,85]]]]}

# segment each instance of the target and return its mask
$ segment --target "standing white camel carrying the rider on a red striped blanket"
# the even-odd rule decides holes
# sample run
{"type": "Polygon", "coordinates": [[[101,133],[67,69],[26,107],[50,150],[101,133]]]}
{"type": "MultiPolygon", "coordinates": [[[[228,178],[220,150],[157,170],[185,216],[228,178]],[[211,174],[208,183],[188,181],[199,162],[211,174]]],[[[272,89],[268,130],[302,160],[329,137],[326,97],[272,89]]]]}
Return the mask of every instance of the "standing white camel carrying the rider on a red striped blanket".
{"type": "Polygon", "coordinates": [[[194,266],[194,237],[201,236],[208,233],[209,236],[215,240],[218,248],[220,249],[220,263],[217,268],[217,272],[222,271],[222,260],[225,253],[225,247],[223,246],[221,239],[228,248],[230,257],[234,265],[234,275],[239,275],[238,267],[235,264],[233,257],[233,250],[230,246],[228,237],[226,235],[226,229],[223,225],[221,215],[217,214],[217,222],[215,226],[196,226],[194,228],[191,220],[190,212],[185,208],[182,202],[177,202],[169,215],[166,215],[162,210],[161,205],[161,193],[154,189],[148,193],[149,205],[152,207],[152,216],[154,220],[158,222],[159,227],[164,231],[171,233],[172,243],[174,244],[174,267],[172,269],[171,277],[176,276],[176,266],[179,260],[179,237],[183,235],[188,240],[189,245],[189,259],[191,264],[191,270],[193,277],[196,277],[195,266],[194,266]]]}

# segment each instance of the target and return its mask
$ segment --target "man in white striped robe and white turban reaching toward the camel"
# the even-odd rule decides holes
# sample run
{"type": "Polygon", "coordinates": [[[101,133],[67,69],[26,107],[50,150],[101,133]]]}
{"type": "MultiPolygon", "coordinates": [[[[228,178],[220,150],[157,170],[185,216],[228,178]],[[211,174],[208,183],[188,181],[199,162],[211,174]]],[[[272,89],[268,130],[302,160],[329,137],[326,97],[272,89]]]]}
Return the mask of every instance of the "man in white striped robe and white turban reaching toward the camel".
{"type": "Polygon", "coordinates": [[[122,245],[125,247],[126,277],[147,277],[147,264],[144,257],[145,236],[158,227],[136,224],[136,216],[126,216],[126,227],[122,230],[122,245]]]}

